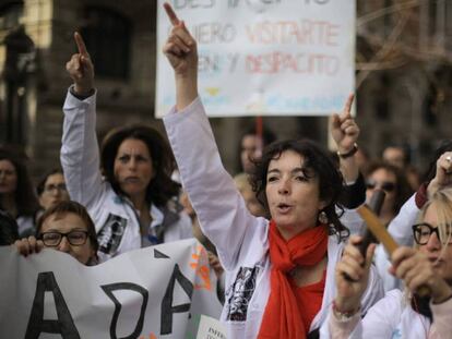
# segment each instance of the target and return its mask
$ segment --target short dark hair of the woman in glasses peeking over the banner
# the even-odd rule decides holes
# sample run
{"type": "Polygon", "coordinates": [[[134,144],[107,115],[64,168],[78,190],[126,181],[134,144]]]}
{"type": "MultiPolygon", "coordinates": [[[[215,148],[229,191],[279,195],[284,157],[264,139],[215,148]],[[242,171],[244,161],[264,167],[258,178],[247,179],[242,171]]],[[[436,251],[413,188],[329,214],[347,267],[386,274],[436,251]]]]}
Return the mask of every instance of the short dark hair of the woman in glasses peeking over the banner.
{"type": "Polygon", "coordinates": [[[83,220],[83,222],[86,225],[86,231],[88,232],[91,246],[93,247],[97,256],[97,250],[99,249],[99,243],[97,242],[96,228],[94,226],[93,219],[90,217],[86,208],[76,202],[64,201],[46,209],[44,214],[38,218],[38,221],[36,225],[36,238],[37,239],[40,238],[43,225],[49,217],[56,216],[58,218],[58,217],[67,215],[68,213],[73,213],[74,215],[78,215],[83,220]]]}

